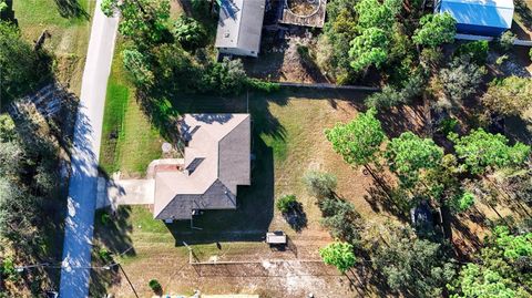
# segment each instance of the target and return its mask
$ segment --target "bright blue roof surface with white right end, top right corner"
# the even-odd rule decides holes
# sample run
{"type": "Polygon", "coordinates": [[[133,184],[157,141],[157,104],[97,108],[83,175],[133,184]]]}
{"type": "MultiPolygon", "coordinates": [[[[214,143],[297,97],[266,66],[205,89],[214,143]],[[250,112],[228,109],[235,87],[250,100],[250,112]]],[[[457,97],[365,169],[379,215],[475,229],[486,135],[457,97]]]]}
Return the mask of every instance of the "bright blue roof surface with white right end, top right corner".
{"type": "Polygon", "coordinates": [[[449,12],[459,24],[510,29],[513,0],[441,0],[439,12],[449,12]]]}

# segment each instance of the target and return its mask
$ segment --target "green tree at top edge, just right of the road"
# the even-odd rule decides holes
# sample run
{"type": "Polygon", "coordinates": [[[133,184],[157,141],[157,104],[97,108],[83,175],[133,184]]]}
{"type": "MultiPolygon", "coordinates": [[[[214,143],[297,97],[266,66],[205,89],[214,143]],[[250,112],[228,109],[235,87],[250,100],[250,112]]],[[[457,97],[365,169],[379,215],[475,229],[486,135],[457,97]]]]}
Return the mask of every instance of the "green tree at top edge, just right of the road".
{"type": "Polygon", "coordinates": [[[168,0],[103,0],[101,9],[108,17],[120,10],[119,31],[135,40],[137,45],[156,43],[167,31],[168,0]]]}

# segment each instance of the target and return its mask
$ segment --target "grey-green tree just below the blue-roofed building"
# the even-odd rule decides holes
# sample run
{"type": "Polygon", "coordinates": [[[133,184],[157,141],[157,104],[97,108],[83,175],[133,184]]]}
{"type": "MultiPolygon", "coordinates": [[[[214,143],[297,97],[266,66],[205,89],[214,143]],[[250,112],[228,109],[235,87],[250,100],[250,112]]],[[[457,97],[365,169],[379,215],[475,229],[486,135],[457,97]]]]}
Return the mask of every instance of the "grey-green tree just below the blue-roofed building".
{"type": "Polygon", "coordinates": [[[484,68],[471,63],[469,58],[462,56],[454,59],[449,68],[442,69],[439,79],[446,96],[460,104],[461,101],[478,92],[484,74],[484,68]]]}

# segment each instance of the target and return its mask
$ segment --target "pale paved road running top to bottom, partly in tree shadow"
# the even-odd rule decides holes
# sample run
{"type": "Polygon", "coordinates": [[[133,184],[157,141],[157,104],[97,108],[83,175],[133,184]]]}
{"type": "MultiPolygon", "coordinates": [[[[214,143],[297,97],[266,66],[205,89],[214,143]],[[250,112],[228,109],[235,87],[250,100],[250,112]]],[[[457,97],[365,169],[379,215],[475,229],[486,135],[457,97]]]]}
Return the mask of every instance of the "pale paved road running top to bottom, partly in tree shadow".
{"type": "Polygon", "coordinates": [[[100,3],[101,0],[98,0],[92,20],[80,107],[74,127],[72,175],[61,269],[61,298],[89,296],[103,106],[119,23],[117,18],[106,18],[101,12],[100,3]]]}

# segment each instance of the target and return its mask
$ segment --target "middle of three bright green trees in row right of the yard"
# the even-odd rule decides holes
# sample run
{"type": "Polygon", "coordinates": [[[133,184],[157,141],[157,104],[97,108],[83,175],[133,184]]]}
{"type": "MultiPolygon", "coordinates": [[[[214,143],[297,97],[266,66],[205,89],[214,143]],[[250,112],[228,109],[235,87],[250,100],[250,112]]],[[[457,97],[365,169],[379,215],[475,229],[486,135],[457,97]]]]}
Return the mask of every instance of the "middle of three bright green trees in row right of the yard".
{"type": "Polygon", "coordinates": [[[443,150],[430,138],[421,138],[406,132],[391,140],[385,156],[401,184],[411,187],[419,179],[421,169],[434,168],[441,163],[443,150]]]}

